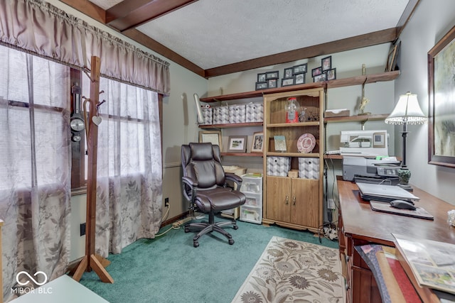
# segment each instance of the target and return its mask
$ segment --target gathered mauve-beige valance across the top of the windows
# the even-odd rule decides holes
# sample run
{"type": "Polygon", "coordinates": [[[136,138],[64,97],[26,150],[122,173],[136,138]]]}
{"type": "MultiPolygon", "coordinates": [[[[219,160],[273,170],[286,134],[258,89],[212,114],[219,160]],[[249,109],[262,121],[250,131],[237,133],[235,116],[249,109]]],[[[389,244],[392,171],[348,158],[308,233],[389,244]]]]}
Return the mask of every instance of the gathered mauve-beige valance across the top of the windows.
{"type": "Polygon", "coordinates": [[[40,0],[0,1],[0,43],[168,95],[169,63],[40,0]]]}

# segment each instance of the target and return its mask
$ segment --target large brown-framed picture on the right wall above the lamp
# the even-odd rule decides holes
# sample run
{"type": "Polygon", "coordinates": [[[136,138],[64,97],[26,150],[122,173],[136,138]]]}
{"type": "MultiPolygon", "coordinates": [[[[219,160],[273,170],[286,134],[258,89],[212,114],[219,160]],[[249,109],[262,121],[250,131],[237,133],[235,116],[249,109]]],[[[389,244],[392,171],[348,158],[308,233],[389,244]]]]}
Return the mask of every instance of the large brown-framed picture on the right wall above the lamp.
{"type": "Polygon", "coordinates": [[[455,26],[428,52],[428,163],[455,167],[455,26]]]}

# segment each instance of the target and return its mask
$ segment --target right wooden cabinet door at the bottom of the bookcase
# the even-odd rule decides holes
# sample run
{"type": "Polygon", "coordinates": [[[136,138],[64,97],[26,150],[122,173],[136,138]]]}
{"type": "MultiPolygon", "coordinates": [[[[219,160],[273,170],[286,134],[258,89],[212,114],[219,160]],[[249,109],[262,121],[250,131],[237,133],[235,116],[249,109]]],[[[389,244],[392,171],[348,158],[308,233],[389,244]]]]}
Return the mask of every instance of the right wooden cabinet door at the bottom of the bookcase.
{"type": "Polygon", "coordinates": [[[319,227],[319,180],[291,179],[291,223],[319,227]]]}

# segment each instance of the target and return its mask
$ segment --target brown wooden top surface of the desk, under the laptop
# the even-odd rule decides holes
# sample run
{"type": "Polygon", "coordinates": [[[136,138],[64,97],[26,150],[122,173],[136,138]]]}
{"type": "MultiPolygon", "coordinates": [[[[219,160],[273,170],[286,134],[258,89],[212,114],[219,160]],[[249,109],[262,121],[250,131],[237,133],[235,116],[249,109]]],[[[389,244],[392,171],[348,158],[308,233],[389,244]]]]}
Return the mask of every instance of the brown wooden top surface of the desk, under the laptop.
{"type": "Polygon", "coordinates": [[[355,183],[341,178],[337,182],[345,234],[388,246],[395,246],[392,233],[455,244],[455,228],[447,222],[447,211],[455,209],[455,205],[414,187],[413,193],[420,198],[415,205],[432,214],[434,221],[380,213],[372,211],[370,203],[360,198],[355,183]]]}

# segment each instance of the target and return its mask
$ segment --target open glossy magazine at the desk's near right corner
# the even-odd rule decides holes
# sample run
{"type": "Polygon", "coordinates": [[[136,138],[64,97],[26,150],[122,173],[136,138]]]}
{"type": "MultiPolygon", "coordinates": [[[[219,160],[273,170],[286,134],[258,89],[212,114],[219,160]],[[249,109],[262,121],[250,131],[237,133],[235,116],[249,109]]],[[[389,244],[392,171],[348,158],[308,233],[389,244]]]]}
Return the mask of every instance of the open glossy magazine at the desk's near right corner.
{"type": "Polygon", "coordinates": [[[455,245],[392,233],[420,286],[455,294],[455,245]]]}

